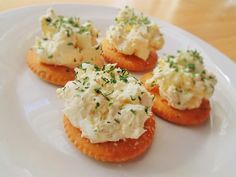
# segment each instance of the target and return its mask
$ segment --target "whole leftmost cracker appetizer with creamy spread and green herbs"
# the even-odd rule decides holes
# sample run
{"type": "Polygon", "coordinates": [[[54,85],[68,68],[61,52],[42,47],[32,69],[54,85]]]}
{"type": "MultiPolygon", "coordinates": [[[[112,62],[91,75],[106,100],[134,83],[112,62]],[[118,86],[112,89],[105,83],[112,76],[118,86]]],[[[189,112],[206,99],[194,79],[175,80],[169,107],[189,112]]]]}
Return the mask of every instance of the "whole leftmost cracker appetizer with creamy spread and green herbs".
{"type": "Polygon", "coordinates": [[[52,9],[40,18],[42,36],[28,51],[27,63],[40,78],[64,86],[74,79],[74,68],[82,62],[103,65],[98,32],[91,22],[57,16],[52,9]]]}

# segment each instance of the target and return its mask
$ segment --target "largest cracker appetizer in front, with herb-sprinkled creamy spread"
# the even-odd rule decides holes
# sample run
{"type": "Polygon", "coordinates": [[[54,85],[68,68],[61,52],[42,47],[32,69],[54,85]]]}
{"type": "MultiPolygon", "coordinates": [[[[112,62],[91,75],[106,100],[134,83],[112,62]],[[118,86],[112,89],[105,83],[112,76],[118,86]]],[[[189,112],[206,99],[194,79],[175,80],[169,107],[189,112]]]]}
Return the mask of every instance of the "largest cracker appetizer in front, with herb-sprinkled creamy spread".
{"type": "Polygon", "coordinates": [[[102,69],[83,63],[76,78],[57,89],[65,101],[64,127],[70,141],[100,161],[124,162],[151,145],[155,121],[153,96],[115,64],[102,69]]]}

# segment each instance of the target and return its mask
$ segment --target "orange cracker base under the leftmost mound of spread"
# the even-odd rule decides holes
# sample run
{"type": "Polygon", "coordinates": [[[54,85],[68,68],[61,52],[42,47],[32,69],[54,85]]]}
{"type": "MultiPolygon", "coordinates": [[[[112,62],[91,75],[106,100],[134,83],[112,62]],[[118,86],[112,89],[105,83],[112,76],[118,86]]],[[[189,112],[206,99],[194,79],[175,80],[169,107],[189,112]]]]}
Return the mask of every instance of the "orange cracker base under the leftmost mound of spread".
{"type": "MultiPolygon", "coordinates": [[[[64,86],[68,81],[75,79],[74,69],[41,63],[32,49],[27,53],[27,64],[41,79],[55,85],[64,86]]],[[[103,62],[98,59],[95,64],[102,66],[103,62]]]]}

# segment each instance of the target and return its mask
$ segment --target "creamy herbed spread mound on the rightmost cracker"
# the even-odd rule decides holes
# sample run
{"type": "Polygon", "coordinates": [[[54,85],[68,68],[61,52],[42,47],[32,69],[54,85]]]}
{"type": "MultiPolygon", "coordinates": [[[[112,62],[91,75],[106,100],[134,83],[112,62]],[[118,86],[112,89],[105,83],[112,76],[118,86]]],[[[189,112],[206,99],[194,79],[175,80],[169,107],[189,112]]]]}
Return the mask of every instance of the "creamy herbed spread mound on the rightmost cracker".
{"type": "Polygon", "coordinates": [[[146,81],[157,85],[160,96],[180,110],[198,108],[203,99],[212,96],[216,83],[216,77],[206,71],[203,58],[194,50],[160,58],[153,77],[146,81]]]}

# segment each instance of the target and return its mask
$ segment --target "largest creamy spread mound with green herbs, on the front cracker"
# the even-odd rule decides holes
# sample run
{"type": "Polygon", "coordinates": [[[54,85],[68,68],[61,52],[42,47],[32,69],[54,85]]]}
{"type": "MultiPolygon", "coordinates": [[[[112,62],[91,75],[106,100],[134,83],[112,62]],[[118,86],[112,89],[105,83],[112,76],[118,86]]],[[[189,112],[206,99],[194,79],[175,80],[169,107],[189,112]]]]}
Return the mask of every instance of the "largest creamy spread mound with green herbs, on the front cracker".
{"type": "Polygon", "coordinates": [[[102,69],[83,63],[76,79],[57,90],[64,114],[91,143],[139,138],[151,115],[153,96],[135,77],[114,64],[102,69]]]}

